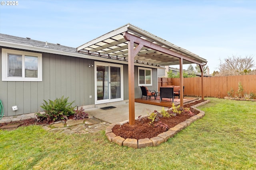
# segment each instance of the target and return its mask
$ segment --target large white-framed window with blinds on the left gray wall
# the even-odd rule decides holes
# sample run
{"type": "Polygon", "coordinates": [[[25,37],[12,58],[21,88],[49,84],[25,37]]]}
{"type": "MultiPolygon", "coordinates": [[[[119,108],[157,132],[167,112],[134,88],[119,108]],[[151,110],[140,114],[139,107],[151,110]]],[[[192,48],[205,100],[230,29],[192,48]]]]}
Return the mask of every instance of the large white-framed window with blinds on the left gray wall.
{"type": "Polygon", "coordinates": [[[2,81],[42,81],[42,54],[2,49],[2,81]]]}

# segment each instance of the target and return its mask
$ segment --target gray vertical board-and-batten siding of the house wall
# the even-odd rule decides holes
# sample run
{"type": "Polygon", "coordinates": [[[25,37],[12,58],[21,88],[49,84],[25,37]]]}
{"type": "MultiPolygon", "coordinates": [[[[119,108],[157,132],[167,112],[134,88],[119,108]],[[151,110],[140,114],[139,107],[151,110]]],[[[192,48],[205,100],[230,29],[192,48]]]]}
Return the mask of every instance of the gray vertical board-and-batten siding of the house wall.
{"type": "MultiPolygon", "coordinates": [[[[13,49],[1,47],[1,72],[2,48],[13,49]]],[[[15,50],[22,51],[22,49],[15,50]]],[[[42,53],[42,82],[2,81],[2,74],[0,74],[0,100],[4,106],[4,115],[12,116],[42,111],[40,106],[43,100],[55,100],[61,96],[69,97],[69,102],[75,101],[74,106],[94,105],[94,67],[88,67],[89,64],[94,64],[94,60],[42,53]],[[18,110],[12,111],[12,106],[18,106],[18,110]]],[[[124,100],[128,100],[128,65],[123,64],[123,67],[124,100]]],[[[134,74],[135,98],[140,98],[138,66],[134,67],[134,74]]],[[[157,81],[154,81],[157,80],[156,68],[152,68],[152,80],[152,86],[149,86],[149,89],[155,90],[157,89],[157,81]]]]}

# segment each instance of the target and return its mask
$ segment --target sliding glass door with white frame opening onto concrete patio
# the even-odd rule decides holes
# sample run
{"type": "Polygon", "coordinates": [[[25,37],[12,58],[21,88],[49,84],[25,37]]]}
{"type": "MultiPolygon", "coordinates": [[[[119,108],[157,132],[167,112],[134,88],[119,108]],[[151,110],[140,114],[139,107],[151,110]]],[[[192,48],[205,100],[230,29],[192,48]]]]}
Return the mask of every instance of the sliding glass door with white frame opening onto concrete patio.
{"type": "Polygon", "coordinates": [[[124,100],[122,65],[95,62],[95,69],[95,104],[124,100]]]}

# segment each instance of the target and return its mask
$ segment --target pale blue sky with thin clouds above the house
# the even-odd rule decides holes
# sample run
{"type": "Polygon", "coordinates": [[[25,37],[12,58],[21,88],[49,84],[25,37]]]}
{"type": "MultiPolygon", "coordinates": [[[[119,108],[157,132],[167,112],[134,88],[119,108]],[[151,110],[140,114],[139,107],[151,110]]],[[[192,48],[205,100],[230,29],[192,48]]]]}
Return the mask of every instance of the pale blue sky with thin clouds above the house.
{"type": "Polygon", "coordinates": [[[8,35],[78,47],[131,23],[208,60],[210,73],[232,55],[253,55],[256,63],[255,0],[3,2],[0,33],[8,35]]]}

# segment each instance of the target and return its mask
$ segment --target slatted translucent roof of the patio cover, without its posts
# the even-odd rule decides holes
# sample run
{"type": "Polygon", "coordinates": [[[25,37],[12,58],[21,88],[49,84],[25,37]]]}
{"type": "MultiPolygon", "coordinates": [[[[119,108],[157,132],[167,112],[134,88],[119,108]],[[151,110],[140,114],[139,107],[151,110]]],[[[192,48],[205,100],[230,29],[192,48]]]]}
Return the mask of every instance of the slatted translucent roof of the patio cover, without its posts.
{"type": "MultiPolygon", "coordinates": [[[[170,51],[176,52],[176,56],[174,56],[144,46],[134,58],[134,61],[137,63],[152,64],[155,66],[176,65],[179,64],[180,56],[185,56],[185,58],[188,60],[191,59],[190,61],[184,60],[183,64],[207,63],[206,59],[203,59],[186,49],[178,47],[160,37],[157,37],[156,35],[153,35],[148,31],[131,25],[130,23],[119,27],[118,29],[115,29],[109,33],[106,33],[88,43],[85,43],[84,45],[81,45],[77,48],[77,51],[89,55],[97,55],[101,57],[127,61],[128,41],[123,36],[124,32],[127,32],[136,37],[140,37],[141,39],[144,39],[150,43],[154,43],[160,47],[169,49],[170,51]]],[[[137,44],[135,44],[134,47],[136,45],[137,44]]]]}

